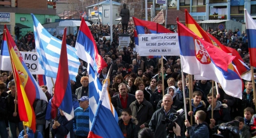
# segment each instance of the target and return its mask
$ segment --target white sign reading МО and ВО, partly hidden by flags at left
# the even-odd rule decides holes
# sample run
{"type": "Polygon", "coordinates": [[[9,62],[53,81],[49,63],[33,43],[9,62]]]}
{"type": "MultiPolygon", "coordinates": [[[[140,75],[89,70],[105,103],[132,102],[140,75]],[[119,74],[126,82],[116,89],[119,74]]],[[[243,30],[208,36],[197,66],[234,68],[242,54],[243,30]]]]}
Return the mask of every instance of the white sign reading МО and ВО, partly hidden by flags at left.
{"type": "MultiPolygon", "coordinates": [[[[1,51],[0,51],[1,52],[1,51]]],[[[26,63],[29,71],[33,75],[44,75],[45,71],[42,69],[42,66],[38,61],[38,53],[36,52],[20,52],[23,57],[24,62],[26,63]]],[[[6,56],[7,57],[7,56],[6,56]]],[[[11,60],[9,58],[3,58],[3,71],[12,71],[11,60]]]]}

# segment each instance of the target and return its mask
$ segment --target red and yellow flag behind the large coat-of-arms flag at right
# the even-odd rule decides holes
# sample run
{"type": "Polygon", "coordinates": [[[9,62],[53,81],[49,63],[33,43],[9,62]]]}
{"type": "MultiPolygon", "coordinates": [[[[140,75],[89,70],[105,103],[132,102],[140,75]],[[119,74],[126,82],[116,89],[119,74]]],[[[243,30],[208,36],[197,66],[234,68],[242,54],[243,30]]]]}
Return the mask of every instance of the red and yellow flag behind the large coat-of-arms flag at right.
{"type": "MultiPolygon", "coordinates": [[[[232,54],[232,56],[236,56],[233,59],[233,62],[229,64],[228,68],[234,72],[236,72],[242,79],[251,80],[248,75],[250,68],[243,62],[241,56],[236,50],[231,50],[231,48],[225,47],[217,38],[206,33],[196,22],[196,20],[185,10],[185,19],[186,19],[186,27],[193,31],[197,36],[204,39],[205,41],[212,43],[222,51],[226,52],[227,54],[232,54]]],[[[242,80],[241,80],[242,81],[242,80]]]]}

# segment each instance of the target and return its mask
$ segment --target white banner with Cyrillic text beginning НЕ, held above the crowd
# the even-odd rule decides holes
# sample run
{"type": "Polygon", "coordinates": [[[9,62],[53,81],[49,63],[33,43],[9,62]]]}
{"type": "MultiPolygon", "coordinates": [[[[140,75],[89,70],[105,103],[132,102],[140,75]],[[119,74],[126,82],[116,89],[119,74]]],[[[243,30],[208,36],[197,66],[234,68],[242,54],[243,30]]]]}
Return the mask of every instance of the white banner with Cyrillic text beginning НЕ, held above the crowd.
{"type": "Polygon", "coordinates": [[[177,33],[140,34],[138,53],[140,56],[179,56],[180,45],[177,33]]]}

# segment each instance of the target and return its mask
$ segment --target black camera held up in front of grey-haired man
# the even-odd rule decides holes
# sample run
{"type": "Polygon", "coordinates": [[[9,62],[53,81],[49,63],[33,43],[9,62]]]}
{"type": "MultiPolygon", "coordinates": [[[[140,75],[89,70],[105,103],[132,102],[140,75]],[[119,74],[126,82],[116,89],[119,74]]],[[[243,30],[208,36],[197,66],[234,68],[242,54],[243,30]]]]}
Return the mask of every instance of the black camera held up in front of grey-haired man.
{"type": "Polygon", "coordinates": [[[166,125],[166,132],[168,133],[166,137],[170,137],[171,133],[169,131],[173,131],[173,127],[176,128],[175,122],[177,123],[178,114],[179,113],[168,113],[165,120],[162,120],[162,124],[166,125]]]}

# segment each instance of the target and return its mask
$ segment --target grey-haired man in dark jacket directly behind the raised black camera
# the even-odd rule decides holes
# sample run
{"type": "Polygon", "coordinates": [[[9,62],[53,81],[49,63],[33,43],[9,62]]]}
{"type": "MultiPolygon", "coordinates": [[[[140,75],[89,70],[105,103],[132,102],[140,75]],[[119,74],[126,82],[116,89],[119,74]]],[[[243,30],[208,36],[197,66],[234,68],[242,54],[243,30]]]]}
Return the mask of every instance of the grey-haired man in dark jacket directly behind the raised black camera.
{"type": "MultiPolygon", "coordinates": [[[[166,124],[162,123],[162,120],[169,118],[171,113],[176,113],[177,111],[173,109],[173,97],[169,94],[164,95],[163,97],[163,107],[154,112],[153,117],[150,121],[150,129],[155,135],[155,138],[166,137],[169,133],[169,136],[173,136],[173,131],[166,131],[166,124]]],[[[184,135],[184,122],[180,115],[178,115],[177,124],[179,124],[181,128],[181,137],[185,137],[184,135]]]]}

